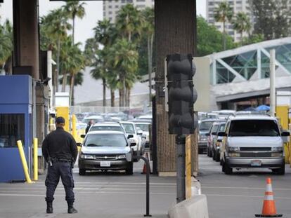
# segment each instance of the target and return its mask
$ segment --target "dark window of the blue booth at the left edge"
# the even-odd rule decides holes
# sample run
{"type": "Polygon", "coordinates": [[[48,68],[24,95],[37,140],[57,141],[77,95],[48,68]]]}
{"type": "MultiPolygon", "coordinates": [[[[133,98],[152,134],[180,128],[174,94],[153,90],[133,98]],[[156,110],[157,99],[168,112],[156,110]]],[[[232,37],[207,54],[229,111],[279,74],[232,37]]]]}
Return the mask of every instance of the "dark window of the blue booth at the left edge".
{"type": "Polygon", "coordinates": [[[0,148],[17,147],[16,142],[24,139],[25,115],[0,114],[0,148]]]}

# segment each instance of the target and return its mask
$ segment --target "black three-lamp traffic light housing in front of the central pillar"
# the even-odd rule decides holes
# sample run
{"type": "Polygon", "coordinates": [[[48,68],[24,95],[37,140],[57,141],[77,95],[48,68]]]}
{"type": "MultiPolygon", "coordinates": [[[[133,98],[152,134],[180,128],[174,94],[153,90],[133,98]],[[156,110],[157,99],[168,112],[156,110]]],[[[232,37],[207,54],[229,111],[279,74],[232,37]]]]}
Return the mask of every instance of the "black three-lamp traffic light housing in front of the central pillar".
{"type": "Polygon", "coordinates": [[[192,55],[167,55],[169,134],[191,134],[197,127],[194,114],[197,91],[193,86],[195,65],[192,55]]]}

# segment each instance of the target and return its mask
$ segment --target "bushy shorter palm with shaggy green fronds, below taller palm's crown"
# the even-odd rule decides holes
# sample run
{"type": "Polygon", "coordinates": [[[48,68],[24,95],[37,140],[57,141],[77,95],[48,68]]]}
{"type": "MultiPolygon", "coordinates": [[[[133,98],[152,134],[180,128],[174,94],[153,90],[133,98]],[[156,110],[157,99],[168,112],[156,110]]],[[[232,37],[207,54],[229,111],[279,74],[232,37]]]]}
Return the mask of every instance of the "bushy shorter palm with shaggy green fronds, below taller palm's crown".
{"type": "Polygon", "coordinates": [[[130,90],[136,80],[138,69],[136,46],[127,39],[117,39],[110,48],[109,55],[112,67],[118,72],[119,107],[129,106],[130,90]]]}

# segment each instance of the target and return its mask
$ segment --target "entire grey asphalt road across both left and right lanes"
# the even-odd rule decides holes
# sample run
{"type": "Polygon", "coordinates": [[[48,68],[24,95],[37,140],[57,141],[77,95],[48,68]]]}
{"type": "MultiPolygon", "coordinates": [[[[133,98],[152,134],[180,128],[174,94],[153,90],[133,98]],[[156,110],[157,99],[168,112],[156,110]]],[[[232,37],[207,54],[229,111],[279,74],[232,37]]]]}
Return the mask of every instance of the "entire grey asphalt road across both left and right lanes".
{"type": "MultiPolygon", "coordinates": [[[[273,179],[277,212],[291,217],[291,169],[284,176],[271,170],[234,171],[224,175],[219,163],[200,155],[202,193],[206,194],[209,218],[249,218],[261,212],[266,177],[273,179]]],[[[62,184],[56,190],[53,214],[46,214],[44,176],[35,184],[0,184],[0,218],[18,217],[96,217],[133,218],[145,214],[145,175],[143,163],[134,164],[134,175],[124,172],[93,172],[75,177],[75,207],[78,214],[67,214],[62,184]]],[[[176,203],[176,178],[150,176],[150,214],[166,218],[167,210],[176,203]]]]}

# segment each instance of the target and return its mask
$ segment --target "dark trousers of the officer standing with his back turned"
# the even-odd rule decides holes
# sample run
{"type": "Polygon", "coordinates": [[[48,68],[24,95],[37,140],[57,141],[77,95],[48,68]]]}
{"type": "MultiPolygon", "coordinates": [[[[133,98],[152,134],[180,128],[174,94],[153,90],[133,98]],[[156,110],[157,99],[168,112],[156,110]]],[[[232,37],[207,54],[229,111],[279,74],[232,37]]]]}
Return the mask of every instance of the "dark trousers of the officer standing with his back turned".
{"type": "Polygon", "coordinates": [[[53,201],[53,194],[56,191],[58,182],[62,179],[63,186],[65,188],[65,200],[68,204],[72,204],[75,201],[74,195],[74,179],[72,177],[71,163],[67,162],[53,162],[52,166],[48,166],[48,172],[46,175],[46,201],[53,201]]]}

